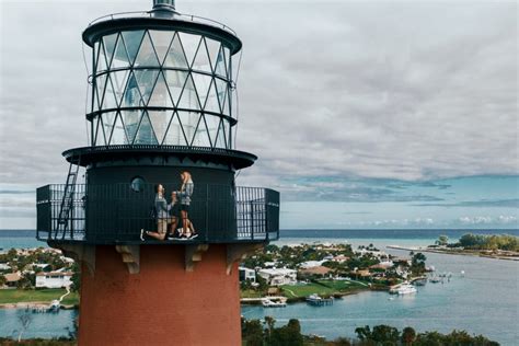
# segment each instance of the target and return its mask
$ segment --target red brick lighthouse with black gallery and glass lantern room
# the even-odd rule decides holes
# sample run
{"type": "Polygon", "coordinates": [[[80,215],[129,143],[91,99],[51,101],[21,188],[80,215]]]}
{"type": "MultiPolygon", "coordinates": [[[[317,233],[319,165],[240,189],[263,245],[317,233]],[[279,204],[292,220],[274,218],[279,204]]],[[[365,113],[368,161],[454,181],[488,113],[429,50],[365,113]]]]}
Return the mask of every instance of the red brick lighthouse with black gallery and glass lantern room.
{"type": "Polygon", "coordinates": [[[38,240],[81,264],[79,344],[241,345],[238,263],[279,237],[279,193],[235,184],[242,42],[173,0],[82,39],[89,141],[36,193],[38,240]]]}

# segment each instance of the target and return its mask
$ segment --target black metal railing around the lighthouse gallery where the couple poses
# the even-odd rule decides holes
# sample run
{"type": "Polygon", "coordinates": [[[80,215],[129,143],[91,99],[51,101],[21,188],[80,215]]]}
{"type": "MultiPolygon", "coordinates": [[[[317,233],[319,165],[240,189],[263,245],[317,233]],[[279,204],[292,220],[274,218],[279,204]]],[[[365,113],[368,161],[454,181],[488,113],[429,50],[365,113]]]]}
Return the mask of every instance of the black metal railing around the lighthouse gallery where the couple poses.
{"type": "MultiPolygon", "coordinates": [[[[171,203],[171,192],[178,186],[163,185],[164,197],[171,203]]],[[[140,243],[141,229],[154,231],[158,228],[158,220],[152,217],[155,198],[152,184],[143,184],[138,191],[128,184],[76,184],[72,191],[71,207],[64,218],[64,197],[69,198],[70,195],[67,185],[46,185],[37,189],[39,240],[92,244],[140,243]]],[[[196,184],[188,219],[198,233],[197,242],[276,240],[279,237],[279,193],[260,187],[196,184]]],[[[169,228],[174,226],[173,220],[168,219],[169,228]]],[[[182,221],[176,228],[182,228],[182,221]]]]}

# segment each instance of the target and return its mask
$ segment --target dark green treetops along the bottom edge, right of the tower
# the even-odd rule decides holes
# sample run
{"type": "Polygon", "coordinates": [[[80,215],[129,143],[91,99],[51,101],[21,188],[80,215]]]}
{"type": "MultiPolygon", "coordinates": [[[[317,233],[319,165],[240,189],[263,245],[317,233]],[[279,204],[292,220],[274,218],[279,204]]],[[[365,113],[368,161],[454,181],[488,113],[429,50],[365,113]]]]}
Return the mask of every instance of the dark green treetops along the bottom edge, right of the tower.
{"type": "Polygon", "coordinates": [[[483,335],[470,335],[464,331],[452,331],[449,334],[438,332],[416,333],[413,327],[399,331],[389,325],[358,327],[355,330],[357,338],[338,337],[327,341],[319,336],[301,334],[298,320],[290,320],[287,325],[276,327],[276,320],[266,316],[260,320],[242,319],[242,337],[244,346],[498,346],[499,344],[483,335]]]}

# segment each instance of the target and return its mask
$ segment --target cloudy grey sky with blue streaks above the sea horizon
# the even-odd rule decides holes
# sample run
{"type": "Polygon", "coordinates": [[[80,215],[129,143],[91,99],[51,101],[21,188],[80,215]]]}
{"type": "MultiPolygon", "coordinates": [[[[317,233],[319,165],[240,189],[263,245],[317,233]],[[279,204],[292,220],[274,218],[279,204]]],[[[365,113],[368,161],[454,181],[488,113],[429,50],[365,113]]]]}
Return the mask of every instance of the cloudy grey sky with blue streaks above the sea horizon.
{"type": "MultiPolygon", "coordinates": [[[[176,1],[243,42],[238,184],[279,191],[282,229],[518,228],[517,7],[176,1]]],[[[86,146],[82,31],[150,8],[0,0],[0,229],[33,229],[86,146]]]]}

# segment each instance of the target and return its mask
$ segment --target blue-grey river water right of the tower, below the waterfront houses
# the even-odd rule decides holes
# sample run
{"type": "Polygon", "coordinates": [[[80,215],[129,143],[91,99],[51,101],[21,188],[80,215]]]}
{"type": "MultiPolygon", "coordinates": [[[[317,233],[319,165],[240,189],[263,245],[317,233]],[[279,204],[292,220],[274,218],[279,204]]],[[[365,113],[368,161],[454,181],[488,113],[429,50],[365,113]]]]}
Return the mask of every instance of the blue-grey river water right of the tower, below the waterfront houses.
{"type": "MultiPolygon", "coordinates": [[[[406,252],[389,251],[396,255],[406,252]]],[[[483,334],[501,345],[517,345],[519,263],[491,258],[427,253],[427,264],[440,272],[452,272],[450,282],[427,284],[413,296],[394,297],[387,292],[361,292],[336,300],[332,307],[305,303],[284,309],[243,307],[246,319],[274,316],[280,324],[298,318],[304,333],[328,338],[355,336],[355,328],[388,324],[418,332],[454,328],[483,334]],[[465,272],[464,277],[460,275],[465,272]]]]}

